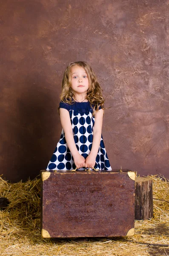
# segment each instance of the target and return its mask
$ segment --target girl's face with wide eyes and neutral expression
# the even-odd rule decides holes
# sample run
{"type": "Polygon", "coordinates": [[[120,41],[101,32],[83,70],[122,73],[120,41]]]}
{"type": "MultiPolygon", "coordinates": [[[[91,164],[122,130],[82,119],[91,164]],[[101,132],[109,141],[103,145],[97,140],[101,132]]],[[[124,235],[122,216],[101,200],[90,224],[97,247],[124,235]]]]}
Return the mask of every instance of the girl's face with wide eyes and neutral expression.
{"type": "Polygon", "coordinates": [[[86,94],[89,89],[89,79],[86,70],[80,66],[73,66],[70,70],[71,87],[74,93],[86,94]]]}

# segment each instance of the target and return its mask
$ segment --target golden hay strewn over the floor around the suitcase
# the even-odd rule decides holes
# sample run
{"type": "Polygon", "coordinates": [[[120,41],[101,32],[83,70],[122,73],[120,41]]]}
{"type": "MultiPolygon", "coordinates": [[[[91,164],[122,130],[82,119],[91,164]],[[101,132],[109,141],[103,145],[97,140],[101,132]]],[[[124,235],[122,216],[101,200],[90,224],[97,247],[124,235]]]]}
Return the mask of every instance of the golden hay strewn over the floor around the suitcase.
{"type": "Polygon", "coordinates": [[[135,221],[133,237],[90,239],[88,242],[42,239],[40,236],[40,180],[36,178],[25,183],[8,183],[0,177],[0,197],[6,197],[11,202],[5,210],[0,210],[0,255],[168,255],[169,180],[161,175],[149,177],[153,179],[154,217],[146,221],[135,221]],[[150,244],[159,244],[159,246],[150,244]]]}

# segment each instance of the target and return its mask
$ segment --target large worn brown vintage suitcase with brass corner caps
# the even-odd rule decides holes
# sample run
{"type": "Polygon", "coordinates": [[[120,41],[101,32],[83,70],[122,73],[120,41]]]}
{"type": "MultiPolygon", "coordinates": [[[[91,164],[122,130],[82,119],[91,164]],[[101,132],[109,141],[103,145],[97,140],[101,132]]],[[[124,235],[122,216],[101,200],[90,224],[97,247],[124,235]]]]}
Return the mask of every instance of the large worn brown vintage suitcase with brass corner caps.
{"type": "Polygon", "coordinates": [[[41,235],[133,236],[135,172],[41,171],[41,235]]]}

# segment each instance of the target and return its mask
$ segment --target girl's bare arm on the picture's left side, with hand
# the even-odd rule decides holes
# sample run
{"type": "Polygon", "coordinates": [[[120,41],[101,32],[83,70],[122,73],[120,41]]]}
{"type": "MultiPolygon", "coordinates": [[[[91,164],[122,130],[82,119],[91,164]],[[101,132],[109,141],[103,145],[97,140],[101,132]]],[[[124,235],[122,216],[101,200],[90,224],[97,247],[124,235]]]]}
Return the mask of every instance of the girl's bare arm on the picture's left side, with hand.
{"type": "Polygon", "coordinates": [[[67,111],[65,108],[60,108],[60,122],[63,128],[63,131],[65,133],[66,143],[72,153],[75,166],[77,167],[77,169],[79,169],[80,167],[84,167],[85,158],[81,156],[77,151],[77,148],[74,142],[69,111],[67,111]]]}

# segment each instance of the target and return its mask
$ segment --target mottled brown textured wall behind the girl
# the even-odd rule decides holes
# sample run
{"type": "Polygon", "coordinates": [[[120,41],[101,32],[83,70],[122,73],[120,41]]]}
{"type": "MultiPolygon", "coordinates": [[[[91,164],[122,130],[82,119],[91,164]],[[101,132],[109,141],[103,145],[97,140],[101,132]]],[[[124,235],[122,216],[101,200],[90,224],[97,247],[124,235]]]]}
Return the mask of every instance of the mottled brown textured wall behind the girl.
{"type": "Polygon", "coordinates": [[[63,71],[87,61],[103,87],[112,169],[169,178],[169,0],[0,1],[0,174],[45,169],[63,71]]]}

